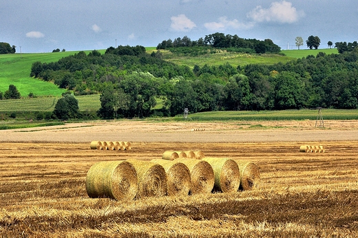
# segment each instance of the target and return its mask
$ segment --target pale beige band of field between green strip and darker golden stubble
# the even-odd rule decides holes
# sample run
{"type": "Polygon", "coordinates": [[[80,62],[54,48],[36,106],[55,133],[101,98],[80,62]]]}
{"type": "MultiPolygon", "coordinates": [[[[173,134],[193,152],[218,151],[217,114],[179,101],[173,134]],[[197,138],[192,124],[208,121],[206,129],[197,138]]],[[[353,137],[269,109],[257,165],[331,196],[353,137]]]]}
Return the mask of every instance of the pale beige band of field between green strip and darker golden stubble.
{"type": "Polygon", "coordinates": [[[0,142],[309,142],[358,141],[358,120],[154,122],[121,120],[0,131],[0,142]],[[194,131],[202,129],[204,131],[194,131]]]}

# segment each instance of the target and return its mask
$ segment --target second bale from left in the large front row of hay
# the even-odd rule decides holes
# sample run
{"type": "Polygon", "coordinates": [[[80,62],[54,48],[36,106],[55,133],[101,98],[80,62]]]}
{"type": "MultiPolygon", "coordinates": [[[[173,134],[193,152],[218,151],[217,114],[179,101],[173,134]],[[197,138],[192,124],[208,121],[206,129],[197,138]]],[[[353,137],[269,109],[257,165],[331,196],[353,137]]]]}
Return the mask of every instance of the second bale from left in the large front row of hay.
{"type": "Polygon", "coordinates": [[[127,160],[133,164],[138,176],[140,197],[160,197],[167,194],[167,174],[160,164],[144,160],[127,160]]]}

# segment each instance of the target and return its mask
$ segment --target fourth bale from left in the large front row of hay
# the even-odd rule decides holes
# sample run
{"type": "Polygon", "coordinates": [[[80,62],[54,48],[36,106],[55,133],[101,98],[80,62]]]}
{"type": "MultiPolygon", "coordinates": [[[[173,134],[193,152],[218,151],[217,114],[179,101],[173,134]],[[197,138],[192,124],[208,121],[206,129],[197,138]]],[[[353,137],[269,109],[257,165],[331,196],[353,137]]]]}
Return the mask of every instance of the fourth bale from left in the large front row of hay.
{"type": "Polygon", "coordinates": [[[211,165],[204,160],[191,160],[178,158],[175,162],[185,164],[191,175],[190,194],[211,193],[214,187],[215,177],[211,165]]]}

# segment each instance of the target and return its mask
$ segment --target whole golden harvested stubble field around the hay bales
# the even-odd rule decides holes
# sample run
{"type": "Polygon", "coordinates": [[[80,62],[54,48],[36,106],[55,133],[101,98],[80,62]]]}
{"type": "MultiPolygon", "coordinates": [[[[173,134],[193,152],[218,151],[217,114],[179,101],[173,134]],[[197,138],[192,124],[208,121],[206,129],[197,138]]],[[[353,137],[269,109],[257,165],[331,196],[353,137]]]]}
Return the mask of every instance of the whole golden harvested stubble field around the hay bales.
{"type": "Polygon", "coordinates": [[[248,131],[139,124],[136,133],[106,131],[99,122],[0,131],[0,237],[358,237],[358,124],[248,131]],[[131,150],[91,149],[94,140],[129,141],[131,150]],[[304,144],[325,153],[302,153],[304,144]],[[251,161],[260,184],[125,201],[87,195],[87,171],[96,162],[149,161],[165,151],[251,161]]]}

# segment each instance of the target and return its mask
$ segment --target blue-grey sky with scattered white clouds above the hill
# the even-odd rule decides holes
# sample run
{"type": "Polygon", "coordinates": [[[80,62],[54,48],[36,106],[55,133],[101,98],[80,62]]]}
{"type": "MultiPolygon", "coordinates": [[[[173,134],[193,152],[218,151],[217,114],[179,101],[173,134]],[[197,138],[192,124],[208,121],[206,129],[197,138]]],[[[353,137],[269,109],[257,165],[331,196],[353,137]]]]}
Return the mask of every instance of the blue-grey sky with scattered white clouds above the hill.
{"type": "MultiPolygon", "coordinates": [[[[17,52],[156,46],[207,34],[271,39],[282,50],[295,38],[358,41],[357,0],[0,0],[0,42],[17,52]]],[[[301,47],[306,49],[306,45],[301,47]]]]}

